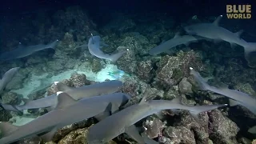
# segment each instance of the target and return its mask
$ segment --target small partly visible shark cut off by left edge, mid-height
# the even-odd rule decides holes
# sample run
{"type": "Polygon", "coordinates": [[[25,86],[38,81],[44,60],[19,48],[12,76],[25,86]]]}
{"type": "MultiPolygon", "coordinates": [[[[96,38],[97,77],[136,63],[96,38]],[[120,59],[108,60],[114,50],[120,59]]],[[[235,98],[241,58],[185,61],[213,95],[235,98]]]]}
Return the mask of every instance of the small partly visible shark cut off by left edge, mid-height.
{"type": "Polygon", "coordinates": [[[12,80],[12,78],[14,78],[14,75],[18,73],[19,68],[20,67],[11,68],[2,75],[2,79],[0,80],[0,94],[2,93],[2,90],[6,88],[6,85],[12,80]]]}

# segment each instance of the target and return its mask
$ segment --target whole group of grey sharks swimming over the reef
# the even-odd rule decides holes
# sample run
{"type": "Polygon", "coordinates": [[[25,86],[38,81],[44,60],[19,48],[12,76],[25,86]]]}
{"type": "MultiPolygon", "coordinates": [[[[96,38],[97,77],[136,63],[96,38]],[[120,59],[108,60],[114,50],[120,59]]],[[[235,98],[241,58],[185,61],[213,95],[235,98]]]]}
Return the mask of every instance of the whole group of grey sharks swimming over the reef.
{"type": "MultiPolygon", "coordinates": [[[[218,16],[212,23],[198,23],[185,26],[182,29],[186,32],[185,35],[177,33],[174,38],[162,42],[159,46],[151,49],[149,55],[156,56],[170,50],[174,46],[188,45],[190,42],[202,40],[210,42],[225,41],[230,42],[231,46],[242,46],[244,48],[244,58],[250,66],[249,56],[250,53],[256,51],[256,42],[246,42],[240,38],[242,31],[233,33],[219,26],[221,19],[222,15],[218,16]]],[[[5,62],[24,58],[39,50],[54,49],[57,45],[58,40],[46,45],[20,45],[12,51],[0,54],[0,61],[5,62]]],[[[102,47],[108,45],[102,42],[99,35],[93,34],[90,35],[88,43],[83,46],[87,46],[90,54],[94,55],[94,57],[113,63],[117,62],[119,58],[122,58],[129,51],[119,50],[116,54],[105,54],[102,51],[102,47]]],[[[6,85],[12,78],[14,78],[14,75],[18,74],[19,69],[19,67],[14,67],[3,74],[0,81],[0,94],[5,90],[6,85]]],[[[23,110],[40,108],[46,108],[48,112],[31,122],[27,122],[23,126],[14,126],[10,122],[0,122],[0,130],[2,131],[0,144],[18,142],[23,138],[30,138],[35,135],[42,138],[43,142],[50,142],[58,129],[76,122],[82,122],[88,118],[95,118],[98,121],[89,129],[86,139],[88,144],[104,144],[117,138],[120,134],[127,134],[139,144],[157,144],[159,143],[158,141],[142,134],[141,130],[138,130],[138,127],[136,127],[136,123],[153,114],[159,116],[158,114],[162,110],[186,110],[199,125],[199,114],[210,110],[222,109],[227,106],[244,106],[252,114],[256,115],[256,98],[253,96],[238,90],[210,86],[205,78],[202,78],[199,74],[199,71],[196,71],[193,67],[190,67],[190,76],[194,78],[194,81],[197,82],[201,90],[225,96],[229,99],[229,103],[186,106],[182,104],[179,97],[172,100],[149,99],[150,94],[145,91],[140,102],[122,108],[132,98],[130,94],[120,91],[123,86],[122,81],[110,80],[76,88],[66,86],[62,82],[54,82],[54,85],[58,88],[56,94],[36,100],[22,98],[24,102],[22,105],[1,104],[4,110],[15,111],[19,114],[22,114],[23,110]]],[[[249,131],[256,134],[256,127],[250,128],[249,131]]]]}

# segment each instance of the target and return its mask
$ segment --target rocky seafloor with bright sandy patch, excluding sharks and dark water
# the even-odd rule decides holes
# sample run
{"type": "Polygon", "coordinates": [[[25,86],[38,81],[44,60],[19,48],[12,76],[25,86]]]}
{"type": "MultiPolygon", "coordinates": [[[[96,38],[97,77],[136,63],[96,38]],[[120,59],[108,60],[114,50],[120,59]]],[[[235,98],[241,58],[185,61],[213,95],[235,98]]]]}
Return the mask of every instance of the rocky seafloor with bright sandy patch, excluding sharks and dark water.
{"type": "MultiPolygon", "coordinates": [[[[55,50],[42,50],[26,58],[1,63],[1,74],[10,68],[21,67],[18,75],[1,94],[2,102],[20,104],[21,98],[36,99],[53,94],[56,92],[53,85],[55,81],[78,87],[106,79],[113,80],[115,77],[108,74],[117,70],[130,74],[119,78],[124,82],[122,92],[133,97],[128,105],[138,102],[146,90],[150,90],[154,98],[172,99],[181,96],[182,103],[191,106],[228,102],[223,96],[198,90],[190,78],[189,67],[198,70],[203,77],[211,78],[209,82],[212,86],[229,86],[246,94],[256,95],[256,71],[246,66],[240,46],[231,48],[226,42],[202,41],[175,47],[168,54],[150,56],[148,51],[151,48],[173,38],[182,26],[212,21],[211,18],[191,18],[186,23],[177,23],[165,15],[154,15],[154,18],[150,14],[142,18],[134,14],[114,14],[111,22],[102,26],[94,23],[80,7],[74,6],[59,10],[50,17],[42,12],[33,16],[22,15],[17,22],[2,19],[2,51],[14,49],[18,42],[36,45],[56,39],[60,41],[55,50]],[[90,34],[102,37],[109,45],[103,48],[108,54],[118,50],[129,51],[114,64],[96,58],[86,46],[81,47],[86,44],[90,34]]],[[[237,27],[228,29],[236,31],[237,27]]],[[[44,111],[28,110],[26,113],[40,115],[44,111]]],[[[34,119],[6,110],[1,110],[0,114],[0,121],[10,121],[18,126],[34,119]]],[[[138,126],[146,127],[146,134],[150,138],[159,138],[165,144],[247,144],[255,137],[247,130],[256,125],[256,116],[242,106],[228,106],[202,113],[200,123],[194,121],[186,111],[175,115],[168,110],[165,114],[166,119],[150,116],[139,122],[138,126]]],[[[52,142],[47,143],[86,143],[84,139],[92,123],[94,120],[88,119],[66,126],[58,130],[52,142]]],[[[39,141],[38,138],[27,138],[20,143],[39,141]]],[[[111,143],[136,143],[125,134],[114,141],[111,143]]]]}

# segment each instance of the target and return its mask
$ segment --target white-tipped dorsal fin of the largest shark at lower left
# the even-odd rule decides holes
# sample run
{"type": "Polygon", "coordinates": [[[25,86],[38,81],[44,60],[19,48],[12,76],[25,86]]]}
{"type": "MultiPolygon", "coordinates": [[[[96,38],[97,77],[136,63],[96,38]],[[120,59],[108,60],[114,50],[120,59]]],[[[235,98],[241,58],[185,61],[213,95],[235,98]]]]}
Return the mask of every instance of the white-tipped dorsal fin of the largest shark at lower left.
{"type": "Polygon", "coordinates": [[[63,92],[57,92],[58,103],[55,109],[62,109],[64,107],[73,105],[76,101],[74,98],[71,98],[69,94],[63,92]]]}

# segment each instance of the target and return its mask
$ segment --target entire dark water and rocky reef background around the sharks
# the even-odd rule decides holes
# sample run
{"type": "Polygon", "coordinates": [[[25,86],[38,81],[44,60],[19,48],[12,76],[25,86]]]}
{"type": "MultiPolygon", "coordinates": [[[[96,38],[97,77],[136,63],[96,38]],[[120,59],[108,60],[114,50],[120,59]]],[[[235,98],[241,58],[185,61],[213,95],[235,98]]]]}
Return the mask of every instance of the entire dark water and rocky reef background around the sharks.
{"type": "MultiPolygon", "coordinates": [[[[256,42],[255,1],[170,1],[170,0],[84,0],[84,1],[5,1],[0,5],[0,54],[22,46],[48,44],[58,40],[53,49],[35,51],[23,58],[0,58],[0,75],[13,67],[18,74],[1,93],[1,102],[22,104],[22,98],[31,100],[54,94],[54,82],[80,87],[120,80],[122,92],[130,94],[130,105],[138,103],[142,93],[149,90],[152,98],[182,97],[189,106],[228,103],[224,96],[194,88],[190,67],[209,78],[211,86],[226,86],[256,97],[256,58],[251,54],[251,65],[246,62],[242,46],[231,47],[228,42],[198,41],[184,43],[158,55],[149,51],[174,38],[184,26],[200,22],[214,22],[223,18],[219,26],[231,32],[244,30],[246,42],[256,42]],[[250,4],[250,19],[226,18],[226,5],[250,4]],[[108,46],[106,54],[128,50],[117,62],[109,62],[90,54],[89,38],[99,35],[108,46]],[[150,88],[149,88],[150,87],[150,88]]],[[[128,104],[128,105],[129,105],[128,104]]],[[[255,103],[256,106],[256,103],[255,103]]],[[[22,126],[46,110],[27,110],[23,116],[0,110],[0,122],[22,126]],[[26,116],[26,114],[31,116],[26,116]]],[[[247,130],[256,125],[256,115],[242,106],[228,106],[202,114],[202,125],[192,121],[187,113],[165,120],[150,116],[141,126],[147,127],[150,138],[167,138],[162,143],[216,143],[247,144],[256,138],[247,130]]],[[[50,143],[86,143],[90,119],[66,126],[50,143]]],[[[26,138],[19,143],[40,143],[38,138],[26,138]]],[[[125,134],[112,143],[136,143],[125,134]]],[[[256,143],[254,141],[254,143],[256,143]]]]}

